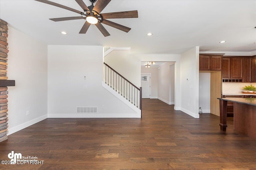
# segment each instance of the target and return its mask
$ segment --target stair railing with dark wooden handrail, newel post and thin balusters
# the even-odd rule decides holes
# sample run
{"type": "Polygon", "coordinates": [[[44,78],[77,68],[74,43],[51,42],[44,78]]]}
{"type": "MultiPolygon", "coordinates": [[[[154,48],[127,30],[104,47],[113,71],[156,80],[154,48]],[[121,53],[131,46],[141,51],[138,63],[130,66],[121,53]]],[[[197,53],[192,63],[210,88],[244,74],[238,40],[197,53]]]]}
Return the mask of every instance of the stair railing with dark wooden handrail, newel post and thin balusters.
{"type": "Polygon", "coordinates": [[[121,96],[142,110],[142,87],[138,88],[116,70],[104,63],[104,82],[121,96]]]}

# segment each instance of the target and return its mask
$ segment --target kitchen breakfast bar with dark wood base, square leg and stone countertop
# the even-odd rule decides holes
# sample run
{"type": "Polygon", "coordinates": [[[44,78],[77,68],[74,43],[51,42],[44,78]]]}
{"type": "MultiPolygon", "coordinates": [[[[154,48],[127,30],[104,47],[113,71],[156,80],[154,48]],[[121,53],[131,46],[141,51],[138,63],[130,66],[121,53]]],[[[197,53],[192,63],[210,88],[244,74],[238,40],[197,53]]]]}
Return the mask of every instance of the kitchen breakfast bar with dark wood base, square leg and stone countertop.
{"type": "Polygon", "coordinates": [[[256,139],[256,98],[218,98],[220,129],[226,131],[228,101],[234,102],[234,130],[256,139]]]}

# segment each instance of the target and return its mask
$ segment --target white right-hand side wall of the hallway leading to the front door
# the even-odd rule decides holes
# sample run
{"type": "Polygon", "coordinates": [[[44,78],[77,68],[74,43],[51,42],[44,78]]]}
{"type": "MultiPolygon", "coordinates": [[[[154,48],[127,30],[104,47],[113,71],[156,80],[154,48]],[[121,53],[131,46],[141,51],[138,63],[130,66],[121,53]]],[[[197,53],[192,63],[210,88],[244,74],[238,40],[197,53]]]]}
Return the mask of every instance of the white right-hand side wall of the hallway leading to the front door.
{"type": "MultiPolygon", "coordinates": [[[[172,104],[171,99],[171,72],[170,65],[174,62],[166,62],[160,66],[158,70],[158,99],[167,104],[172,104]]],[[[174,72],[172,72],[174,73],[174,72]]],[[[174,75],[174,74],[173,74],[174,75]]],[[[174,95],[174,94],[173,94],[174,95]]]]}

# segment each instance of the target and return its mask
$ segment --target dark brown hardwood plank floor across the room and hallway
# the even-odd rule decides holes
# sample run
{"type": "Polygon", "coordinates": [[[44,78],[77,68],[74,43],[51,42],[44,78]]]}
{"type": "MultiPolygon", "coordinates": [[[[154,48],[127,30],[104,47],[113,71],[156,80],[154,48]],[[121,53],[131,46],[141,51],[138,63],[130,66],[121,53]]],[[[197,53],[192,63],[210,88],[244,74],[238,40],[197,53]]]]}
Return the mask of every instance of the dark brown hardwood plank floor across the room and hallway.
{"type": "Polygon", "coordinates": [[[256,140],[234,131],[233,117],[223,133],[218,116],[195,119],[157,99],[143,100],[142,119],[45,119],[0,143],[0,160],[12,150],[44,162],[1,170],[256,169],[256,140]]]}

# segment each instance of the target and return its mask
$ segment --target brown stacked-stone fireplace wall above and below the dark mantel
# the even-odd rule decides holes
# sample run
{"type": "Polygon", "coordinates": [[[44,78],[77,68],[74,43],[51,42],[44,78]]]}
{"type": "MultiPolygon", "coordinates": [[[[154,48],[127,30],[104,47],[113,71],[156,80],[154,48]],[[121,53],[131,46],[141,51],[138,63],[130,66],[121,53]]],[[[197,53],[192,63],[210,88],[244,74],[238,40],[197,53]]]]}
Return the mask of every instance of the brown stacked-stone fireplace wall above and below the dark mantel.
{"type": "MultiPolygon", "coordinates": [[[[8,26],[7,22],[0,19],[0,80],[7,80],[8,57],[8,26]]],[[[1,82],[0,82],[1,83],[1,82]]],[[[8,139],[8,88],[0,86],[0,142],[8,139]]]]}

